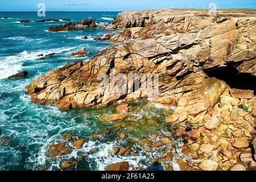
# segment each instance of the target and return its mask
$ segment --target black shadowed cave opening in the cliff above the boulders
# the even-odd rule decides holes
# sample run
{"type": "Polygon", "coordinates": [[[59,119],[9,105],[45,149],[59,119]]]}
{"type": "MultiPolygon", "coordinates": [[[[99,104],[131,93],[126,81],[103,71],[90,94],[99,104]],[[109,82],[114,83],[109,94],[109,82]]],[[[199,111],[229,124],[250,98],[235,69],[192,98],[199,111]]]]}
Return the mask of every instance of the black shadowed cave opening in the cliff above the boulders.
{"type": "Polygon", "coordinates": [[[227,66],[222,69],[204,70],[209,77],[225,81],[230,88],[254,90],[256,92],[256,77],[248,73],[239,73],[237,69],[227,66]]]}

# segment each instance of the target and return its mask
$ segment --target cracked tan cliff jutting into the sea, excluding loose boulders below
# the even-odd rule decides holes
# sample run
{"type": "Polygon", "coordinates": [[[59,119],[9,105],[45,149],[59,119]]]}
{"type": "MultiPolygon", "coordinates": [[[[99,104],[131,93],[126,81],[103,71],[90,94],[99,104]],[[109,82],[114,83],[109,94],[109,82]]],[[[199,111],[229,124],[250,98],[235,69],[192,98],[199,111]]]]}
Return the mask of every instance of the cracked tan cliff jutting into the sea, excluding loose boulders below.
{"type": "Polygon", "coordinates": [[[37,78],[27,86],[32,101],[69,109],[147,98],[152,93],[143,92],[141,87],[133,93],[98,89],[97,77],[109,75],[111,70],[115,75],[149,73],[159,77],[155,102],[177,106],[177,112],[196,117],[216,105],[228,86],[208,77],[204,70],[229,65],[255,76],[256,18],[229,18],[217,23],[192,13],[169,16],[162,11],[119,14],[108,28],[128,28],[114,35],[123,44],[105,49],[88,63],[71,63],[37,78]]]}

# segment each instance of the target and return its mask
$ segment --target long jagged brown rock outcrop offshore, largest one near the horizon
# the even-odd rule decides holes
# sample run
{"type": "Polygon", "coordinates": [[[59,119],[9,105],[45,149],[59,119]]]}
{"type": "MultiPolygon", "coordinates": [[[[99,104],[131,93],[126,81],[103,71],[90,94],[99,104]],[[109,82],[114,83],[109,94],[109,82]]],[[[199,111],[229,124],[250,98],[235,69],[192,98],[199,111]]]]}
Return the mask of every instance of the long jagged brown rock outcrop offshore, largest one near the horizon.
{"type": "Polygon", "coordinates": [[[83,30],[84,28],[95,28],[96,22],[94,19],[83,19],[79,23],[68,22],[63,26],[50,27],[48,31],[59,32],[59,31],[73,31],[73,30],[83,30]]]}

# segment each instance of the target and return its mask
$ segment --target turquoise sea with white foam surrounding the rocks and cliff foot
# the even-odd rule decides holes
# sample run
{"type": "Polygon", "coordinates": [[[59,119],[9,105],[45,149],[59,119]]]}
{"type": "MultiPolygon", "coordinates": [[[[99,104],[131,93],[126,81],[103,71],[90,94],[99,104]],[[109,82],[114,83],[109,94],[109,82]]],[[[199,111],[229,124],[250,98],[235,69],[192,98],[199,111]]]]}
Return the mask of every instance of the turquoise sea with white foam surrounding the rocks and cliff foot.
{"type": "MultiPolygon", "coordinates": [[[[124,127],[117,127],[115,123],[105,123],[100,116],[114,113],[115,106],[105,109],[75,109],[59,110],[54,105],[33,104],[30,96],[25,94],[25,86],[36,77],[43,75],[57,67],[62,67],[73,61],[87,61],[111,43],[96,42],[93,36],[101,36],[109,30],[97,28],[72,32],[47,32],[50,26],[66,22],[31,22],[18,23],[19,20],[29,19],[72,19],[78,22],[92,18],[100,23],[107,23],[115,18],[117,12],[49,12],[46,17],[38,17],[37,13],[7,13],[0,16],[9,19],[0,19],[0,129],[1,136],[10,136],[7,144],[0,146],[0,170],[36,170],[39,167],[46,170],[60,170],[59,163],[65,159],[83,158],[77,170],[101,170],[111,163],[127,160],[132,167],[147,168],[149,159],[159,158],[163,148],[145,152],[142,148],[133,150],[137,155],[111,156],[108,150],[115,146],[136,146],[129,137],[143,139],[161,129],[162,135],[173,137],[173,128],[164,124],[166,114],[161,113],[161,107],[151,109],[144,102],[130,103],[131,111],[128,118],[119,122],[124,127]],[[88,40],[80,39],[88,36],[88,40]],[[91,55],[84,58],[69,58],[72,51],[86,47],[91,55]],[[54,56],[39,60],[40,53],[55,52],[54,56]],[[5,79],[20,71],[28,71],[29,76],[20,79],[5,79]],[[139,123],[139,119],[154,119],[154,123],[139,123]],[[100,130],[108,129],[103,135],[100,130]],[[119,140],[121,131],[127,133],[128,138],[119,140]],[[79,150],[58,158],[48,158],[48,144],[61,142],[63,133],[73,133],[78,138],[86,139],[86,143],[79,150]],[[99,134],[93,139],[92,134],[99,134]],[[99,147],[95,154],[88,154],[91,148],[99,147]],[[138,155],[139,154],[139,155],[138,155]]],[[[158,138],[158,139],[159,139],[158,138]]],[[[157,140],[157,139],[152,139],[157,140]]],[[[172,140],[166,145],[179,145],[180,139],[172,140]]],[[[67,143],[68,144],[68,143],[67,143]]],[[[180,152],[177,153],[181,155],[180,152]]],[[[177,155],[177,156],[178,156],[177,155]]],[[[173,164],[175,167],[175,164],[173,164]]]]}

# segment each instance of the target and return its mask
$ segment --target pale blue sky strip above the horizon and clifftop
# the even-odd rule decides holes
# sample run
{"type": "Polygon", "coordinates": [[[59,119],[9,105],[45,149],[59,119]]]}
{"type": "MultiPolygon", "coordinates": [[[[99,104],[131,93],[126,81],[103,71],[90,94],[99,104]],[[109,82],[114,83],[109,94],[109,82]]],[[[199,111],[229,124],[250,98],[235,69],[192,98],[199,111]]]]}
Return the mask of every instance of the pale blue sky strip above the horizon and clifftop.
{"type": "Polygon", "coordinates": [[[45,3],[46,11],[128,11],[173,8],[217,9],[253,8],[255,0],[0,0],[0,11],[37,11],[38,3],[45,3]]]}

